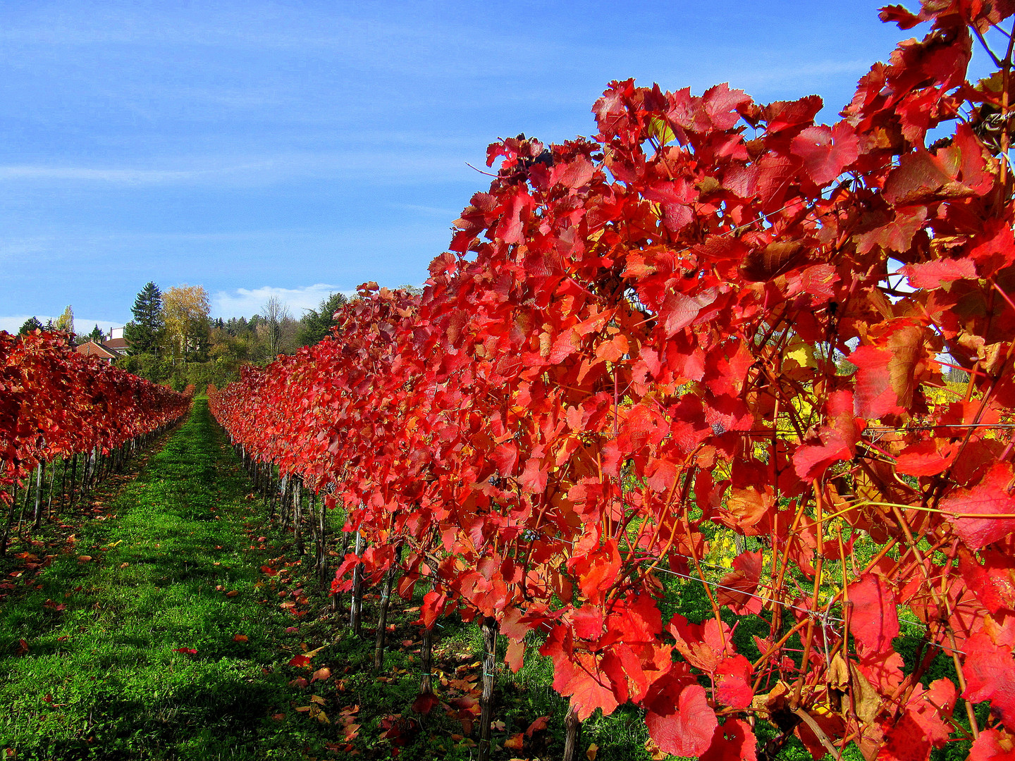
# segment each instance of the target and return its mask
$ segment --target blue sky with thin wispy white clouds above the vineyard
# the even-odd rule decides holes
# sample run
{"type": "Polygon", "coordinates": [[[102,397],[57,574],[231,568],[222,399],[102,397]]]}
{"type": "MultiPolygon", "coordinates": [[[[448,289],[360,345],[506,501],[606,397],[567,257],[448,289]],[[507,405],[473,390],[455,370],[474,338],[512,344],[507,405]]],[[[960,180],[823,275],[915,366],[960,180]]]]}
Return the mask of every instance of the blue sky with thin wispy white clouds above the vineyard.
{"type": "Polygon", "coordinates": [[[878,5],[5,0],[0,329],[122,325],[148,280],[216,317],[421,283],[498,136],[591,134],[626,77],[816,92],[833,121],[925,32],[878,5]]]}

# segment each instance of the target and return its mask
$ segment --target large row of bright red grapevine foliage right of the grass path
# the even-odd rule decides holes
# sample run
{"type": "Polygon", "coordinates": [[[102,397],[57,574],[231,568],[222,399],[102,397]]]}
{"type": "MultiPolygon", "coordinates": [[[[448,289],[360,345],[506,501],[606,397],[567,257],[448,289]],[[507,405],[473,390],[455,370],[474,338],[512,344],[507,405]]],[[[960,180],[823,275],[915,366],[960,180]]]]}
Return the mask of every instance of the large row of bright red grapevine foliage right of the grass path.
{"type": "Polygon", "coordinates": [[[984,116],[1007,116],[1010,54],[965,76],[1013,11],[886,9],[933,27],[830,126],[813,95],[613,82],[593,139],[490,146],[418,301],[364,287],[335,337],[213,411],[334,487],[376,576],[408,547],[426,626],[492,617],[513,668],[544,634],[580,717],[630,701],[663,751],[709,759],[754,758],[751,718],[815,758],[926,759],[962,697],[995,709],[969,711],[974,752],[1010,750],[1015,240],[984,116]],[[702,522],[759,548],[718,583],[702,522]],[[664,573],[706,581],[713,618],[664,621],[664,573]],[[765,622],[760,658],[724,610],[765,622]],[[906,674],[899,610],[926,626],[906,674]],[[921,681],[939,652],[957,684],[921,681]]]}

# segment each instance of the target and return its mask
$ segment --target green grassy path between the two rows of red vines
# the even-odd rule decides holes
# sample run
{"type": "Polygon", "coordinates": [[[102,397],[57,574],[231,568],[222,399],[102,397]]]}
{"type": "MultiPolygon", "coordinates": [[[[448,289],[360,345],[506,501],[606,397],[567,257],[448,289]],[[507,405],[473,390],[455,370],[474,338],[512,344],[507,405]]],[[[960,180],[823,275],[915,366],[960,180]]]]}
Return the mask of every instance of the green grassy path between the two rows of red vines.
{"type": "Polygon", "coordinates": [[[107,503],[118,517],[89,523],[0,606],[0,758],[314,750],[311,727],[273,717],[292,697],[278,644],[292,619],[259,603],[250,485],[220,439],[198,400],[107,503]]]}

